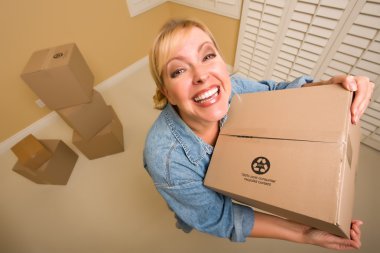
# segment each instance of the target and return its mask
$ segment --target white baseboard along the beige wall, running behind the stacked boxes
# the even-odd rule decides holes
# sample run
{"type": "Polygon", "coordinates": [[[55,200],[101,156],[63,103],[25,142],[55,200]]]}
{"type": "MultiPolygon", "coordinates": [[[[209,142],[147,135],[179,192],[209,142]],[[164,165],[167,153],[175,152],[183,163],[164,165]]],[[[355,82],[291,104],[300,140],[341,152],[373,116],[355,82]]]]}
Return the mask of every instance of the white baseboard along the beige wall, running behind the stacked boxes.
{"type": "MultiPolygon", "coordinates": [[[[120,72],[116,73],[115,75],[111,76],[110,78],[102,81],[98,85],[94,87],[95,90],[102,92],[104,90],[107,90],[111,87],[113,87],[116,84],[120,83],[120,80],[127,78],[129,75],[135,73],[139,69],[145,67],[148,65],[148,57],[145,56],[144,58],[136,61],[135,63],[129,65],[125,69],[121,70],[120,72]]],[[[34,134],[39,129],[51,124],[55,120],[59,119],[59,115],[52,111],[46,116],[42,117],[41,119],[35,121],[31,125],[27,126],[23,130],[19,131],[18,133],[14,134],[13,136],[9,137],[8,139],[2,141],[0,143],[0,154],[5,153],[8,151],[13,145],[15,145],[17,142],[22,140],[25,136],[28,134],[34,134]]],[[[59,139],[59,136],[57,137],[59,139]]]]}

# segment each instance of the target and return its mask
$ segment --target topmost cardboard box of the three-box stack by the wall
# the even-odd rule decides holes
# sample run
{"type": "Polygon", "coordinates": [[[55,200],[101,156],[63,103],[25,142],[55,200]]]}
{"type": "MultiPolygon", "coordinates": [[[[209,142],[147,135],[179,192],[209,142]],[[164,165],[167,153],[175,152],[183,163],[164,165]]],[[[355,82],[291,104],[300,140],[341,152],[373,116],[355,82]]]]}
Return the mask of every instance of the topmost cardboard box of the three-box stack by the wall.
{"type": "Polygon", "coordinates": [[[52,110],[91,101],[94,76],[74,43],[34,52],[21,77],[52,110]]]}

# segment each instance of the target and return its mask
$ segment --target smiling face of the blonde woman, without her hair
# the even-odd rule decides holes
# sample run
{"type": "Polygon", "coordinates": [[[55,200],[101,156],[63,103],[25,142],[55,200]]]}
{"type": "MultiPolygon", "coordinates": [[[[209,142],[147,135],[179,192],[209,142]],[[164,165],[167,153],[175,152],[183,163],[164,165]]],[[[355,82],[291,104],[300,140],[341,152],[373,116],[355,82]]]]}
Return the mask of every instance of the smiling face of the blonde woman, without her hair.
{"type": "Polygon", "coordinates": [[[217,122],[227,113],[231,94],[227,66],[201,29],[178,36],[181,41],[163,68],[164,94],[190,127],[217,122]]]}

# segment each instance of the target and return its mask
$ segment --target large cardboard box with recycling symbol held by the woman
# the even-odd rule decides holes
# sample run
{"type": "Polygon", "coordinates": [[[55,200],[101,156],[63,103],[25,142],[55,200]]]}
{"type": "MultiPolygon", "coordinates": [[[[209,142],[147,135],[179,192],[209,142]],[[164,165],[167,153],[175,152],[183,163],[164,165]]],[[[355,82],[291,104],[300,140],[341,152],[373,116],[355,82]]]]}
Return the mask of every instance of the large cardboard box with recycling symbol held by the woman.
{"type": "Polygon", "coordinates": [[[338,85],[234,97],[204,184],[242,203],[350,237],[360,127],[338,85]]]}

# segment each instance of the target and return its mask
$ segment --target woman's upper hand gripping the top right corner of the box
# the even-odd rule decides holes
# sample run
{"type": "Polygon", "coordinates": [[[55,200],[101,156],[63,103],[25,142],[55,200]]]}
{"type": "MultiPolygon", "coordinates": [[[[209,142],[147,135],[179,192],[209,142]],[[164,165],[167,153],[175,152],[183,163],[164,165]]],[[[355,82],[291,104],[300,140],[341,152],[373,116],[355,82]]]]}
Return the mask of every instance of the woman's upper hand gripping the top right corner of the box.
{"type": "Polygon", "coordinates": [[[375,84],[365,76],[346,75],[334,76],[326,83],[341,84],[347,90],[355,92],[354,101],[351,104],[351,122],[357,124],[371,101],[375,84]]]}

